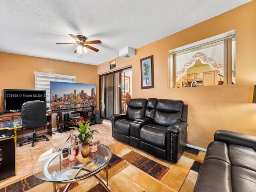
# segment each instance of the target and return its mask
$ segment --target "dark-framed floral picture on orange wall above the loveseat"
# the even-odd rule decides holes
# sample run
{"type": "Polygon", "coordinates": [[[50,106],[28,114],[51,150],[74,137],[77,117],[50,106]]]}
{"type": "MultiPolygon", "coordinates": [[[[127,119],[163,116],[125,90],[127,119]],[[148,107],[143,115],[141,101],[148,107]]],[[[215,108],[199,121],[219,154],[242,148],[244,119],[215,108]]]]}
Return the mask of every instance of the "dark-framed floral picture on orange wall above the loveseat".
{"type": "Polygon", "coordinates": [[[141,89],[154,88],[153,55],[140,60],[141,89]]]}

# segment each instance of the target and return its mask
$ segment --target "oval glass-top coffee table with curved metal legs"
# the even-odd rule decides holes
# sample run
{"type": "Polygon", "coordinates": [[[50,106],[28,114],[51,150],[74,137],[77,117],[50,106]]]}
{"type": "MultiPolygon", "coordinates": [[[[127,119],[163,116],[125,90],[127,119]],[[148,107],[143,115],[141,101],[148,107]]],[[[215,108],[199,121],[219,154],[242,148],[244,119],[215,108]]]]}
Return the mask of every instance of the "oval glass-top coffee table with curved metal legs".
{"type": "Polygon", "coordinates": [[[32,168],[34,176],[40,180],[52,182],[54,192],[56,192],[56,183],[68,184],[64,189],[66,192],[71,183],[94,176],[109,192],[112,192],[108,186],[108,163],[115,152],[114,144],[106,139],[94,140],[100,140],[97,152],[90,153],[87,158],[78,154],[74,161],[62,158],[62,148],[65,148],[65,145],[47,150],[34,162],[32,168]],[[106,181],[98,175],[98,172],[105,167],[106,181]]]}

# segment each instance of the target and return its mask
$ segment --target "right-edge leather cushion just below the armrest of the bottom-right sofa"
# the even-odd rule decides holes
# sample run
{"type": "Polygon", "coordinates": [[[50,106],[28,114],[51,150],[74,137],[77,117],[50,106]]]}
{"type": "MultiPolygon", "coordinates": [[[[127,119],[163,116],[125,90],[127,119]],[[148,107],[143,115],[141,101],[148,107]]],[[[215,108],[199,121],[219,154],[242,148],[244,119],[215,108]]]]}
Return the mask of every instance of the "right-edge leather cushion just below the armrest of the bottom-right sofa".
{"type": "Polygon", "coordinates": [[[229,145],[228,154],[232,166],[239,166],[256,172],[256,151],[252,148],[229,145]]]}

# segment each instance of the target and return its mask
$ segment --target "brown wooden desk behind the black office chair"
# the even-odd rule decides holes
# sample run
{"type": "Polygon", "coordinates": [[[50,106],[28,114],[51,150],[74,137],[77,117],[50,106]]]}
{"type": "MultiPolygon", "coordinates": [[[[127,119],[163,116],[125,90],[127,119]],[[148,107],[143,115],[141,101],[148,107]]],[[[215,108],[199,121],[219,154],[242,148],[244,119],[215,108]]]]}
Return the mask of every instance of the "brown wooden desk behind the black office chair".
{"type": "MultiPolygon", "coordinates": [[[[52,136],[52,111],[47,110],[46,115],[47,115],[47,134],[52,136]]],[[[6,121],[18,119],[20,117],[21,117],[21,112],[6,113],[4,115],[0,115],[0,122],[6,122],[6,121]]]]}

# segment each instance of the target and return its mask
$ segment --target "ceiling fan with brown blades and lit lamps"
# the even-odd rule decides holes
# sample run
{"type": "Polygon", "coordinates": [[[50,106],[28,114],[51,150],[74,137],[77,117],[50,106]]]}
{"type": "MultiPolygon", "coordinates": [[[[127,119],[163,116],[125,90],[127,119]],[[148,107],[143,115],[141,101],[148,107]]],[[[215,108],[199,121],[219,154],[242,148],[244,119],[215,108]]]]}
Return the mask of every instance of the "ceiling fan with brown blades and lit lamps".
{"type": "Polygon", "coordinates": [[[86,41],[86,37],[83,35],[72,35],[69,34],[74,40],[76,40],[76,43],[56,43],[57,45],[63,45],[63,44],[73,44],[73,45],[78,45],[74,53],[79,53],[82,54],[83,50],[84,53],[87,53],[89,49],[94,50],[98,52],[99,50],[90,46],[89,44],[99,44],[101,43],[100,40],[94,40],[94,41],[86,41]]]}

